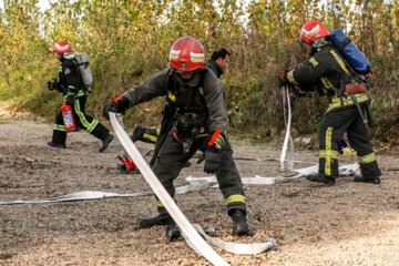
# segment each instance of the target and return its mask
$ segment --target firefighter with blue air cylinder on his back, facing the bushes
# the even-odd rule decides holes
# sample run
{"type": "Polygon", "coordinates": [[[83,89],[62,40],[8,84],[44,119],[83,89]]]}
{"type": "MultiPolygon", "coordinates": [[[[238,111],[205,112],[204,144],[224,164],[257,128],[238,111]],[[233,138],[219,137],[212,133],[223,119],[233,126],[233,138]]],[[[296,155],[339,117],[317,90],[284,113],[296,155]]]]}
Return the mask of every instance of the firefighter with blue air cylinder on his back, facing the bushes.
{"type": "MultiPolygon", "coordinates": [[[[279,83],[299,85],[304,90],[323,86],[330,96],[330,103],[319,129],[319,172],[307,176],[308,181],[324,184],[335,184],[338,173],[338,143],[344,133],[351,147],[357,152],[361,175],[355,176],[355,182],[371,184],[380,183],[381,172],[376,154],[368,140],[364,110],[368,110],[370,98],[361,90],[359,93],[347,94],[348,84],[359,85],[348,70],[348,65],[334,49],[328,39],[326,28],[310,21],[303,25],[300,39],[310,51],[310,59],[303,66],[282,72],[279,83]]],[[[361,88],[361,86],[359,86],[361,88]]]]}

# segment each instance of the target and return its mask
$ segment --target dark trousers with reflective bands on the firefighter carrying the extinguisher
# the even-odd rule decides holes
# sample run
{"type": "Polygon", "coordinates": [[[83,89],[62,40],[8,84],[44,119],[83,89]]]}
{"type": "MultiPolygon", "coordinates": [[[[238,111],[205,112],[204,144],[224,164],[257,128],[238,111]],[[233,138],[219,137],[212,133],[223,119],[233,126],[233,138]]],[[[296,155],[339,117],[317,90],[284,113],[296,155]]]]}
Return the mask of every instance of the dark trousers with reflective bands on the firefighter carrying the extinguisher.
{"type": "MultiPolygon", "coordinates": [[[[73,120],[76,124],[76,127],[84,129],[93,136],[100,140],[104,140],[110,134],[110,131],[99,121],[96,121],[95,119],[93,119],[92,116],[88,115],[84,112],[85,102],[86,102],[86,95],[80,96],[76,98],[72,106],[73,120]]],[[[53,127],[52,142],[54,144],[65,144],[65,141],[66,141],[66,131],[62,119],[62,112],[61,109],[58,109],[55,114],[55,124],[53,127]]]]}

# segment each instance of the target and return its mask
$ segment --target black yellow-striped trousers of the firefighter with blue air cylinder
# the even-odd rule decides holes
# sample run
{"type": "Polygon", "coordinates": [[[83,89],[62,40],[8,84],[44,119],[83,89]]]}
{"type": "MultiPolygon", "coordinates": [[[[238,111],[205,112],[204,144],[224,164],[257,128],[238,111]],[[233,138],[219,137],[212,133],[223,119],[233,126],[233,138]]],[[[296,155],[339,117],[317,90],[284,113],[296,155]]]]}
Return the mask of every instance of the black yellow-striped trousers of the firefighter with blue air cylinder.
{"type": "Polygon", "coordinates": [[[350,146],[357,152],[362,176],[366,178],[380,176],[381,171],[368,140],[366,124],[355,105],[329,112],[323,117],[318,134],[319,173],[332,178],[339,176],[338,143],[345,132],[350,146]]]}

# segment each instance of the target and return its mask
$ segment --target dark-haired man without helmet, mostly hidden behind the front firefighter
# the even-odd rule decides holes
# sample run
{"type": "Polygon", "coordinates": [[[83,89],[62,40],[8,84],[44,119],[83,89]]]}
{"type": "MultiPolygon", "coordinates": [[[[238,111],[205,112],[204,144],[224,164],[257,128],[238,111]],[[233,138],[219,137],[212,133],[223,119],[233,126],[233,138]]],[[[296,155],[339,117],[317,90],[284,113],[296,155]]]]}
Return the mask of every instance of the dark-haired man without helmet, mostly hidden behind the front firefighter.
{"type": "MultiPolygon", "coordinates": [[[[214,72],[217,79],[219,79],[228,66],[228,61],[231,55],[232,54],[225,48],[215,50],[213,51],[209,61],[206,62],[205,68],[212,70],[212,72],[214,72]]],[[[142,141],[145,143],[155,144],[158,134],[160,131],[156,129],[144,127],[137,124],[134,127],[131,139],[133,142],[142,141]]],[[[190,166],[190,162],[187,162],[187,166],[190,166]]]]}

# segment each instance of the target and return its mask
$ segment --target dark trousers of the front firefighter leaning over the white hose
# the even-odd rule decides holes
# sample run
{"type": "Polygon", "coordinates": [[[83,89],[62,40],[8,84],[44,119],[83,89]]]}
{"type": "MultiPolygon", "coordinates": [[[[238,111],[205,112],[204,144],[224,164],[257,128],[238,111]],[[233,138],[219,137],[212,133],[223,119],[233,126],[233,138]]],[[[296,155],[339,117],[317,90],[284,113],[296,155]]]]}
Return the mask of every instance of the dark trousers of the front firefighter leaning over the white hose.
{"type": "MultiPolygon", "coordinates": [[[[195,154],[195,152],[205,147],[206,140],[207,137],[197,139],[190,152],[184,153],[183,144],[174,140],[172,132],[166,136],[152,170],[172,198],[175,200],[173,181],[178,176],[186,162],[195,154]]],[[[246,202],[243,183],[234,163],[232,145],[227,137],[225,137],[225,143],[226,145],[221,151],[221,170],[215,175],[219,190],[227,203],[227,213],[231,215],[234,209],[246,212],[246,202]]],[[[158,198],[156,200],[158,212],[166,212],[158,198]]]]}

